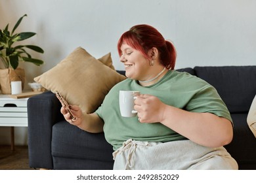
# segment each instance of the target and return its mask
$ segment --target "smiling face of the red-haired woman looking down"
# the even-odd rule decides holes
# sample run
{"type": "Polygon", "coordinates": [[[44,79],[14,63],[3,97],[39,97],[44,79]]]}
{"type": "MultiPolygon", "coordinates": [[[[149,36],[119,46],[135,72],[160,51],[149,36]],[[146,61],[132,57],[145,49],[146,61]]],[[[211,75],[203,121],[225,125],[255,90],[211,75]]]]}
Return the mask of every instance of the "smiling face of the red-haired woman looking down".
{"type": "Polygon", "coordinates": [[[120,61],[125,65],[125,75],[133,80],[144,80],[150,67],[149,60],[139,50],[125,42],[121,45],[120,61]]]}

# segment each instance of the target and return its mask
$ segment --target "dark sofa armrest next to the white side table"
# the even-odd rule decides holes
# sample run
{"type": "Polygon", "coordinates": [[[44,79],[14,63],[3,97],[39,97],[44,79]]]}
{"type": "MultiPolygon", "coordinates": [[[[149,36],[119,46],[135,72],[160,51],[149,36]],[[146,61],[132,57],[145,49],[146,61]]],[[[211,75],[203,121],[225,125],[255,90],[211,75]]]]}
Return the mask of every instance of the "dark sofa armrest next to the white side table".
{"type": "Polygon", "coordinates": [[[64,117],[52,92],[28,99],[28,152],[30,167],[53,169],[51,141],[53,125],[64,117]]]}

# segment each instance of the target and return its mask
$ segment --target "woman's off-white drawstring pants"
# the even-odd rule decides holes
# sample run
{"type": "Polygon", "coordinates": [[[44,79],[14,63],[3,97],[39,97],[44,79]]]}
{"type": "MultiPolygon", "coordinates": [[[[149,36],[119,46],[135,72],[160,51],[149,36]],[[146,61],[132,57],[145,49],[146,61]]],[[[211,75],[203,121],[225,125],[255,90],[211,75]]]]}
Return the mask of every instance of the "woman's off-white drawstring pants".
{"type": "Polygon", "coordinates": [[[190,140],[142,142],[129,139],[114,153],[114,169],[238,169],[224,147],[208,148],[190,140]]]}

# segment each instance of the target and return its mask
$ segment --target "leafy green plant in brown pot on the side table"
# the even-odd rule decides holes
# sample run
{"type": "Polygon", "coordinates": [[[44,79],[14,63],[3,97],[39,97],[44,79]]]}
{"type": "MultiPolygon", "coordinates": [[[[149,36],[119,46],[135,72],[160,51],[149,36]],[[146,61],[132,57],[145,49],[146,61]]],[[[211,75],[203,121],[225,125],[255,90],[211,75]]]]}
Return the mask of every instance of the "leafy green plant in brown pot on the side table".
{"type": "MultiPolygon", "coordinates": [[[[27,16],[24,14],[24,16],[27,16]]],[[[4,94],[11,93],[11,81],[22,80],[22,89],[24,88],[25,72],[24,69],[18,67],[20,61],[26,61],[35,65],[43,64],[41,59],[32,58],[27,49],[43,54],[43,49],[35,45],[22,45],[18,42],[33,37],[36,33],[22,32],[14,33],[22,19],[14,25],[12,31],[9,31],[9,24],[5,29],[0,29],[0,61],[4,69],[0,69],[0,86],[1,92],[4,94]]]]}

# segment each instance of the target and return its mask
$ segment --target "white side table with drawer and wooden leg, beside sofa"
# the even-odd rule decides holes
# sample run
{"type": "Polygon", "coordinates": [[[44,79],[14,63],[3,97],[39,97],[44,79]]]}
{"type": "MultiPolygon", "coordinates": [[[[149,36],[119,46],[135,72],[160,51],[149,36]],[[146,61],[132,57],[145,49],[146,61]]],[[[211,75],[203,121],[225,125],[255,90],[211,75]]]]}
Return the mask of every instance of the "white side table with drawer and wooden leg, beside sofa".
{"type": "Polygon", "coordinates": [[[14,127],[28,126],[28,98],[12,99],[0,95],[0,126],[11,126],[11,149],[14,150],[14,127]]]}

